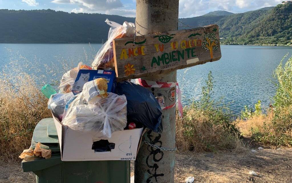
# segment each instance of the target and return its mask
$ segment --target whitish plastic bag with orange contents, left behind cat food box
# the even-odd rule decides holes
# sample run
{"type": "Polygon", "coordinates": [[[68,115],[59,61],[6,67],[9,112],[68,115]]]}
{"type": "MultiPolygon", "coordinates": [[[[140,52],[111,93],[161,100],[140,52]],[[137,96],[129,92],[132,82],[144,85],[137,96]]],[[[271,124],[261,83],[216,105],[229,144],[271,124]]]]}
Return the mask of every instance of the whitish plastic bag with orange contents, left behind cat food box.
{"type": "Polygon", "coordinates": [[[72,90],[72,86],[75,82],[77,74],[80,69],[91,69],[91,67],[84,65],[82,62],[79,62],[78,66],[66,72],[60,81],[60,89],[61,93],[70,93],[72,90]]]}

